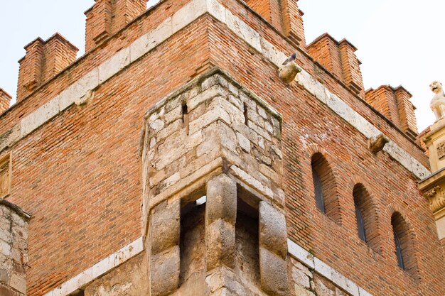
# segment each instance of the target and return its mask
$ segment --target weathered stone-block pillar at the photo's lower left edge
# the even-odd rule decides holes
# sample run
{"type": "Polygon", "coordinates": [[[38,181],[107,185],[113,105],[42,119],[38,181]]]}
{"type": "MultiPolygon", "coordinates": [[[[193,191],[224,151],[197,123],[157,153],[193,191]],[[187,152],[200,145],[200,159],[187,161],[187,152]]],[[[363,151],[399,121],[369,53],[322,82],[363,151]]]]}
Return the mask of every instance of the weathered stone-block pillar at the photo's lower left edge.
{"type": "Polygon", "coordinates": [[[26,295],[28,221],[31,215],[0,199],[0,295],[26,295]]]}

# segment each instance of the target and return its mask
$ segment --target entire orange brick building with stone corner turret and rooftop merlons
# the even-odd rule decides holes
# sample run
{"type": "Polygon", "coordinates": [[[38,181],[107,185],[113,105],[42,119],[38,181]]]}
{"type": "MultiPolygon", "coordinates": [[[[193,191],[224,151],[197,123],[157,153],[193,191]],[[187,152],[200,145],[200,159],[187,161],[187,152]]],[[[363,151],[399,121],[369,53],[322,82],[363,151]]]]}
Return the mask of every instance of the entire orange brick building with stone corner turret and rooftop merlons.
{"type": "Polygon", "coordinates": [[[289,0],[85,14],[0,89],[2,296],[445,294],[411,95],[348,40],[289,0]]]}

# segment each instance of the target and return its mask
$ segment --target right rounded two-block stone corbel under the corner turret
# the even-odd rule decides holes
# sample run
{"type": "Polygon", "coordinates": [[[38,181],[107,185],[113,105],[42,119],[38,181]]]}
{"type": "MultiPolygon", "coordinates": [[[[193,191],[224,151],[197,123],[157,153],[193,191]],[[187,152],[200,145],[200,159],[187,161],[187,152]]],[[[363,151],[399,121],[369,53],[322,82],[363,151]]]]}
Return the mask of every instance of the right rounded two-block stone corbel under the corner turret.
{"type": "Polygon", "coordinates": [[[264,291],[289,295],[286,216],[267,202],[259,202],[259,273],[264,291]]]}

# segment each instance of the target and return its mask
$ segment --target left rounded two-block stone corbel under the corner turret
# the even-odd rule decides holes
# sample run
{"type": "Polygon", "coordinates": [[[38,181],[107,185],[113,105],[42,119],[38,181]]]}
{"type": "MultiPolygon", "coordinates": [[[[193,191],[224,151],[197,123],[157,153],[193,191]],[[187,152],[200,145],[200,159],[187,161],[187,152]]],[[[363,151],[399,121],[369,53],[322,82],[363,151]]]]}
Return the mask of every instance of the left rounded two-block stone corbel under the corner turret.
{"type": "Polygon", "coordinates": [[[151,296],[169,295],[179,286],[181,200],[157,205],[149,227],[151,296]]]}

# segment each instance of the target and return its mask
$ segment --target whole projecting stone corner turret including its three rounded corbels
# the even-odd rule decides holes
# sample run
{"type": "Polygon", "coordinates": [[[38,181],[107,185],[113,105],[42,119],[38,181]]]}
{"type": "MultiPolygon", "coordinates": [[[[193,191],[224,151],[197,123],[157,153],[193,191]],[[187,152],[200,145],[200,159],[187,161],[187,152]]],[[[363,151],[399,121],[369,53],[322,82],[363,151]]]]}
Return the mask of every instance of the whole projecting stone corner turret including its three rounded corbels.
{"type": "Polygon", "coordinates": [[[181,208],[202,195],[207,200],[206,278],[223,277],[208,283],[210,295],[227,292],[230,283],[245,283],[244,276],[234,273],[238,199],[257,213],[259,225],[259,265],[252,273],[260,280],[252,285],[270,295],[286,295],[288,277],[282,270],[286,270],[287,236],[277,111],[230,77],[212,71],[147,112],[143,168],[152,295],[168,295],[180,286],[181,208]],[[240,194],[238,186],[250,193],[240,194]]]}

